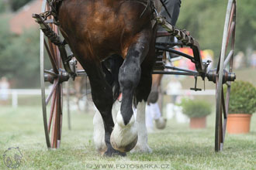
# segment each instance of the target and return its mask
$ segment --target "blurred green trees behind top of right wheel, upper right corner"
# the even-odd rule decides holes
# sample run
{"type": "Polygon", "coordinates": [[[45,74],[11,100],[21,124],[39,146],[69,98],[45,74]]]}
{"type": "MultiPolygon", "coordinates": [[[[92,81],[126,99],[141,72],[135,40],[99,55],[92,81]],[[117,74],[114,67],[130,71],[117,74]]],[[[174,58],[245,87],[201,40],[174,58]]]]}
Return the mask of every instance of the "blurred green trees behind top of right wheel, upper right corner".
{"type": "MultiPolygon", "coordinates": [[[[177,26],[187,29],[202,49],[220,54],[227,0],[182,1],[177,26]]],[[[236,52],[256,49],[256,1],[237,1],[236,52]]]]}

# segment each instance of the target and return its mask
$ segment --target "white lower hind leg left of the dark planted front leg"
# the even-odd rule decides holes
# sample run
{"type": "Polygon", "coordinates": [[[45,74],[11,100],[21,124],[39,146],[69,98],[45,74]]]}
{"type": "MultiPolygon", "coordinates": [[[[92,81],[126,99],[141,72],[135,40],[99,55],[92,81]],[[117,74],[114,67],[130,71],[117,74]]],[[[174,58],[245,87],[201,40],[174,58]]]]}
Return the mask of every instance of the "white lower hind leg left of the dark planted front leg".
{"type": "Polygon", "coordinates": [[[99,113],[98,110],[95,112],[95,115],[93,117],[93,126],[93,140],[95,143],[95,148],[101,153],[105,152],[107,149],[105,142],[105,128],[102,120],[102,115],[99,113]]]}

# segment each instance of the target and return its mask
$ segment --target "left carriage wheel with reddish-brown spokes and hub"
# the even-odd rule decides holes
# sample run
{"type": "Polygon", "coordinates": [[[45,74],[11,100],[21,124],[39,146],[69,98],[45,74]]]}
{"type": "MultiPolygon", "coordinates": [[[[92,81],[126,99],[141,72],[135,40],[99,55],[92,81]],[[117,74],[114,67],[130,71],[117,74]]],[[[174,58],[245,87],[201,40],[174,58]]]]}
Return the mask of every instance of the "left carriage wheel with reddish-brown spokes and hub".
{"type": "MultiPolygon", "coordinates": [[[[49,8],[46,1],[43,1],[42,12],[49,8]]],[[[57,26],[50,24],[50,28],[59,35],[57,26]]],[[[47,56],[47,57],[48,57],[47,56]]],[[[61,145],[62,127],[62,83],[68,80],[68,74],[61,68],[61,56],[57,46],[47,39],[40,31],[40,81],[42,92],[43,125],[48,148],[59,148],[61,145]],[[50,58],[51,69],[45,69],[44,49],[50,58]],[[46,97],[45,84],[52,83],[50,93],[46,97]],[[47,120],[47,108],[50,110],[47,120]]]]}

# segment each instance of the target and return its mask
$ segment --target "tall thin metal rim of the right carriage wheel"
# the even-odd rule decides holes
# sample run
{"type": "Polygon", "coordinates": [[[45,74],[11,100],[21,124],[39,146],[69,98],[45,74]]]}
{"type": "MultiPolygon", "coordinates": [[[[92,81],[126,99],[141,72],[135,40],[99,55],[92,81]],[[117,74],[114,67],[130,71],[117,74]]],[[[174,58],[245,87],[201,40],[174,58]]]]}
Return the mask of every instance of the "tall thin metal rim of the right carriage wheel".
{"type": "Polygon", "coordinates": [[[221,55],[219,60],[219,65],[217,69],[217,78],[216,78],[216,131],[215,131],[215,151],[223,150],[223,141],[226,134],[226,125],[227,125],[227,112],[230,96],[230,83],[227,82],[227,96],[226,101],[223,94],[223,69],[227,63],[230,63],[230,70],[233,70],[233,59],[234,59],[234,36],[235,36],[235,14],[236,14],[236,0],[229,0],[227,5],[227,14],[225,19],[225,25],[223,30],[223,42],[221,48],[221,55]],[[232,21],[231,21],[232,20],[232,21]],[[234,28],[231,30],[231,24],[234,21],[234,28]],[[231,23],[232,22],[232,23],[231,23]],[[230,29],[229,29],[230,28],[230,29]],[[225,59],[227,53],[227,46],[229,44],[229,39],[231,36],[231,50],[233,53],[230,55],[230,59],[225,59]],[[226,62],[226,61],[227,62],[226,62]],[[224,113],[223,113],[224,112],[224,113]],[[222,116],[224,115],[224,117],[222,116]]]}

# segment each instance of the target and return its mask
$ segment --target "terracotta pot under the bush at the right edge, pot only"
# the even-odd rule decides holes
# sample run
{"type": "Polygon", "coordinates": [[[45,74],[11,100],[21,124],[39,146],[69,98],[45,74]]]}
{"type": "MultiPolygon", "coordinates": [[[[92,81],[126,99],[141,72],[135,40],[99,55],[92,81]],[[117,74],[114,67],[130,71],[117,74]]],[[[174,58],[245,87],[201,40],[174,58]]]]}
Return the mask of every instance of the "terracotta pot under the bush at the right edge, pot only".
{"type": "Polygon", "coordinates": [[[250,131],[251,114],[228,114],[227,132],[229,134],[247,134],[250,131]]]}

